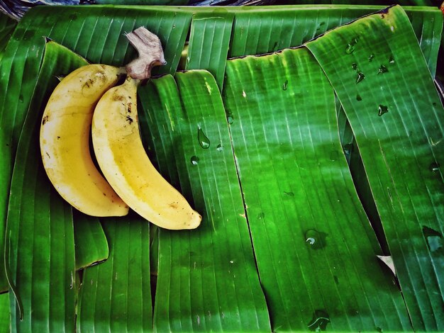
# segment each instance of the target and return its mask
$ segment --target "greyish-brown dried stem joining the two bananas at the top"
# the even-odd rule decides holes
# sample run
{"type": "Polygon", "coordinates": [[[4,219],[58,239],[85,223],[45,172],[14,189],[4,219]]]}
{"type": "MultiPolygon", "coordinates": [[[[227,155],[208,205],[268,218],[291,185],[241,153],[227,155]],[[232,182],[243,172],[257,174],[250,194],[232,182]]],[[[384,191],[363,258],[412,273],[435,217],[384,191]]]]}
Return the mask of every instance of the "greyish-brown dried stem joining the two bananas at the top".
{"type": "Polygon", "coordinates": [[[160,39],[145,27],[128,33],[126,38],[139,54],[137,59],[126,65],[126,72],[133,79],[149,79],[152,67],[167,64],[160,39]]]}

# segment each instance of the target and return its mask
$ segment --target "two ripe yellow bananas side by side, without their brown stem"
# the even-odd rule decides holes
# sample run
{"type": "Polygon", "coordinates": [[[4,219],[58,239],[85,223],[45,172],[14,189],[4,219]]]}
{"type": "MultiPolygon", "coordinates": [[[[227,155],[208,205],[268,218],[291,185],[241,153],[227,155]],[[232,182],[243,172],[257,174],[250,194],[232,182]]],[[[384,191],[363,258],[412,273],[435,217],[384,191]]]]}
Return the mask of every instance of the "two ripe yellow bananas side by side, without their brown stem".
{"type": "Polygon", "coordinates": [[[123,216],[128,206],[171,230],[201,222],[179,191],[150,162],[140,138],[140,80],[103,64],[80,67],[62,79],[45,108],[40,151],[48,177],[62,198],[87,215],[123,216]],[[89,149],[90,130],[96,168],[89,149]]]}

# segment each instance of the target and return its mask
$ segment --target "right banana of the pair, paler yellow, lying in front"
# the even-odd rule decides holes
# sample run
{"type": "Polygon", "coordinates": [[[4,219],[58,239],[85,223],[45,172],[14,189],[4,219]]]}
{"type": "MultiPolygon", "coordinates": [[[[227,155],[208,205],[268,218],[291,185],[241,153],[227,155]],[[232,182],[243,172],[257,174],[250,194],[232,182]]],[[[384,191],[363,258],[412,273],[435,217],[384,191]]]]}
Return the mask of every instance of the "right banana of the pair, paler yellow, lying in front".
{"type": "Polygon", "coordinates": [[[159,174],[143,148],[138,83],[128,77],[97,103],[92,120],[97,162],[116,193],[143,218],[165,229],[194,229],[201,215],[159,174]]]}

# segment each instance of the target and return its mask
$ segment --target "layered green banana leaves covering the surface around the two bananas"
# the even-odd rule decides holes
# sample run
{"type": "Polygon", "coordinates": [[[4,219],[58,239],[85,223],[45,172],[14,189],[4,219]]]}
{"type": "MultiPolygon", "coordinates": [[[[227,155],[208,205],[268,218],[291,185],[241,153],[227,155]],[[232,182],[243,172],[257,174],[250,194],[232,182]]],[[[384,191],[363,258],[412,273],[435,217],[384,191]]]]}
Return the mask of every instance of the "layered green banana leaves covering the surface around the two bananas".
{"type": "Polygon", "coordinates": [[[31,9],[0,53],[1,329],[443,331],[442,30],[433,7],[31,9]],[[143,142],[196,230],[79,213],[41,163],[57,77],[128,63],[138,26],[167,60],[143,142]]]}

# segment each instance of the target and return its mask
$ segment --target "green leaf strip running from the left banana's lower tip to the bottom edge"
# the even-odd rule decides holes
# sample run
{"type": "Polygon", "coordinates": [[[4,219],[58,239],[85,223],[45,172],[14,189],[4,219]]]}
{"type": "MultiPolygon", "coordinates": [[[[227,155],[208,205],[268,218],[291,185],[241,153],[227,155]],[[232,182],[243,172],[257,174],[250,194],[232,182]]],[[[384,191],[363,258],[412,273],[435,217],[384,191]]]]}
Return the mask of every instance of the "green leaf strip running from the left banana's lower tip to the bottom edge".
{"type": "Polygon", "coordinates": [[[150,225],[138,216],[107,218],[110,252],[84,269],[77,305],[78,332],[150,332],[150,225]]]}

